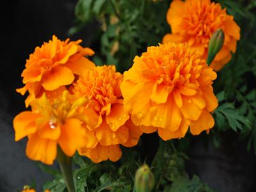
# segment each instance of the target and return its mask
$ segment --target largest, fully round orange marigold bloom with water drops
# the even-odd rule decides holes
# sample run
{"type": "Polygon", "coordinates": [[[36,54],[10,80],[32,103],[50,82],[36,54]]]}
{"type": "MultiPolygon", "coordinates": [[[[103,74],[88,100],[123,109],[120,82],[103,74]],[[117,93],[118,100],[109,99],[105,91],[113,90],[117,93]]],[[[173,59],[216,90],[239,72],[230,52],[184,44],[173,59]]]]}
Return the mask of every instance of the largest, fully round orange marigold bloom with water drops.
{"type": "Polygon", "coordinates": [[[148,47],[124,72],[124,108],[143,132],[157,130],[163,140],[184,137],[189,126],[192,134],[209,131],[218,106],[211,86],[216,76],[186,44],[148,47]]]}

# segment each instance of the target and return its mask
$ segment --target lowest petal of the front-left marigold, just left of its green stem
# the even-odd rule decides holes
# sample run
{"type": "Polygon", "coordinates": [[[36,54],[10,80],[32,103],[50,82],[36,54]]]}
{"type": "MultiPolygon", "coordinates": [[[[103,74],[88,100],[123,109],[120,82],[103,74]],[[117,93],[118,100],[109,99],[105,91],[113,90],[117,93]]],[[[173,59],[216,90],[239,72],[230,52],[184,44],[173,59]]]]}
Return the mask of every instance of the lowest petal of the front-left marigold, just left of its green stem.
{"type": "Polygon", "coordinates": [[[29,159],[52,164],[57,156],[57,142],[42,139],[38,134],[32,134],[27,143],[26,154],[29,159]]]}

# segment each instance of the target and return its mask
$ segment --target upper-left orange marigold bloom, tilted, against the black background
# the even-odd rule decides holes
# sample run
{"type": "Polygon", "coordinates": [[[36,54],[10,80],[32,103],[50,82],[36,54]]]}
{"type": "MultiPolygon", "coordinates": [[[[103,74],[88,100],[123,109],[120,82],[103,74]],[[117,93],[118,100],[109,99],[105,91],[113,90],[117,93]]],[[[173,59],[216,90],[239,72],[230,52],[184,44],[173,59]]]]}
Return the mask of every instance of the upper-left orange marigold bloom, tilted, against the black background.
{"type": "Polygon", "coordinates": [[[94,52],[81,47],[81,42],[69,42],[69,39],[63,42],[52,36],[52,40],[36,47],[35,52],[30,54],[21,74],[25,86],[17,89],[22,95],[29,92],[26,107],[35,98],[41,97],[43,92],[71,84],[75,79],[74,74],[81,75],[84,68],[94,67],[92,61],[84,57],[92,56],[94,52]]]}

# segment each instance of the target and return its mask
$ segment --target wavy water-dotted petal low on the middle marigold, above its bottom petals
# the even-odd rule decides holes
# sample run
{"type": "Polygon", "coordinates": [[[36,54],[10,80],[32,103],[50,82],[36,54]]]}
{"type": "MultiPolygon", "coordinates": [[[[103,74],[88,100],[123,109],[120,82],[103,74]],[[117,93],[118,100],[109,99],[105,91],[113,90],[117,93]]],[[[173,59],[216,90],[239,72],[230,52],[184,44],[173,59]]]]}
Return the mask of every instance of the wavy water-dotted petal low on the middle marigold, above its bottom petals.
{"type": "Polygon", "coordinates": [[[103,120],[102,124],[95,129],[96,136],[101,145],[116,145],[125,143],[129,138],[129,131],[127,127],[122,126],[116,131],[112,131],[106,120],[103,120]]]}

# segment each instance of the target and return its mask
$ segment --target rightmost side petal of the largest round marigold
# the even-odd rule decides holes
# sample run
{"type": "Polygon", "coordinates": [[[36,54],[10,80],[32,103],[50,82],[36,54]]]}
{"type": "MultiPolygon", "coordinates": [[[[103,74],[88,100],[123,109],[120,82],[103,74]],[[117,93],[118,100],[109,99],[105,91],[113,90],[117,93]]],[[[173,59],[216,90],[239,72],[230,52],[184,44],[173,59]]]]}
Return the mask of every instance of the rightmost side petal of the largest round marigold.
{"type": "Polygon", "coordinates": [[[205,100],[205,107],[208,111],[211,112],[218,107],[218,100],[213,93],[212,86],[202,88],[202,97],[205,100]]]}

